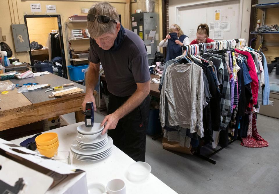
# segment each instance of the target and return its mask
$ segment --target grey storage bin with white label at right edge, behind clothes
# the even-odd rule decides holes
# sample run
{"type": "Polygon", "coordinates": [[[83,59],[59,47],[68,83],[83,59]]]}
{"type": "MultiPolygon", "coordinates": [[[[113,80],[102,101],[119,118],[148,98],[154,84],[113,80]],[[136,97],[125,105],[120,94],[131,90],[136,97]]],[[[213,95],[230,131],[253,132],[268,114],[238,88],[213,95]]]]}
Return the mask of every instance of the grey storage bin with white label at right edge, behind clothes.
{"type": "Polygon", "coordinates": [[[259,114],[279,119],[279,93],[270,92],[269,105],[261,105],[259,114]]]}

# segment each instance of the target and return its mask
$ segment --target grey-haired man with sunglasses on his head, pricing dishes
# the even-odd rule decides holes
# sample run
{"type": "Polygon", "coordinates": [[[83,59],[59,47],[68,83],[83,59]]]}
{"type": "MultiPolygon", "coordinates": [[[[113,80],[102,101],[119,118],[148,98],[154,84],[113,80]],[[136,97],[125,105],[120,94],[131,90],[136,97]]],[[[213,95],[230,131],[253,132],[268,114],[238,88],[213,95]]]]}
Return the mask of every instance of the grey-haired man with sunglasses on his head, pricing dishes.
{"type": "Polygon", "coordinates": [[[89,70],[86,73],[86,102],[93,102],[99,65],[105,72],[109,95],[108,115],[101,125],[113,143],[135,161],[145,161],[146,129],[150,108],[150,73],[143,40],[119,23],[115,7],[94,4],[87,15],[90,33],[89,70]],[[108,130],[112,129],[112,130],[108,130]]]}

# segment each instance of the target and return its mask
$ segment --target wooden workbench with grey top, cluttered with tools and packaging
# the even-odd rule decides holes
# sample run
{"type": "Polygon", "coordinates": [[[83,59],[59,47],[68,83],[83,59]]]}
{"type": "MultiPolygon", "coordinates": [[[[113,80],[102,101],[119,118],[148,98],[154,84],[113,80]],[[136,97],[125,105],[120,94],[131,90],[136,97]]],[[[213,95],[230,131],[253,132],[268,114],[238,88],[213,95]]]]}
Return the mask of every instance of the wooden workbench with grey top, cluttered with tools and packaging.
{"type": "Polygon", "coordinates": [[[84,89],[81,94],[61,98],[49,98],[52,91],[44,92],[47,88],[18,93],[17,88],[10,90],[6,95],[0,95],[0,131],[25,124],[37,122],[47,118],[75,112],[76,122],[84,120],[82,115],[82,102],[85,97],[85,86],[67,80],[54,74],[41,75],[26,79],[11,79],[12,83],[22,86],[24,83],[51,84],[50,87],[60,86],[66,83],[74,83],[74,86],[84,89]]]}

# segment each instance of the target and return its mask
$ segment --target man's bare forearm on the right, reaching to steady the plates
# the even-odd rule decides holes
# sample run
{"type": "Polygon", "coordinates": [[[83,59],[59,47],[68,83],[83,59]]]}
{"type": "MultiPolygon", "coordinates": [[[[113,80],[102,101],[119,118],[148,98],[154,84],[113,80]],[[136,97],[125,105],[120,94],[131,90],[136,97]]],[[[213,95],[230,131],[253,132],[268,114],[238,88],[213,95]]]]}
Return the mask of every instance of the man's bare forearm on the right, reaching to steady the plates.
{"type": "Polygon", "coordinates": [[[122,105],[120,106],[114,113],[118,115],[119,118],[124,117],[131,111],[133,111],[136,107],[138,107],[142,101],[149,95],[150,88],[146,88],[145,90],[137,89],[135,93],[122,105]]]}

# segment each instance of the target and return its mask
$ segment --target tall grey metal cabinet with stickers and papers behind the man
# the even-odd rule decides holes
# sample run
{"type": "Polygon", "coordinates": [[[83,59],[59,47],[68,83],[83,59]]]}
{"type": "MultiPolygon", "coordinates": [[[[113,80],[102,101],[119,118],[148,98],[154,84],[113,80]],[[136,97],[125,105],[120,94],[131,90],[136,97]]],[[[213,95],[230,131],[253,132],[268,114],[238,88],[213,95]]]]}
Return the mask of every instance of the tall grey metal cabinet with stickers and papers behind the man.
{"type": "Polygon", "coordinates": [[[157,46],[159,46],[159,14],[132,14],[132,31],[142,38],[147,49],[149,65],[154,61],[157,46]]]}

